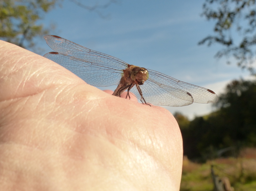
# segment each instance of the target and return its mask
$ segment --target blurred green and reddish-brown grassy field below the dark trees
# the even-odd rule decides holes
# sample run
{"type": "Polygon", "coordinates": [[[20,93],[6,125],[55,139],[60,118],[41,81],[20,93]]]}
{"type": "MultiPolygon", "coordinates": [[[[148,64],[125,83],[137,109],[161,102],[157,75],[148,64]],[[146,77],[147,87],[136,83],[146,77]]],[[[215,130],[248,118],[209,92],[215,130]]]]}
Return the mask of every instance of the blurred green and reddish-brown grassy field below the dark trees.
{"type": "Polygon", "coordinates": [[[212,191],[211,165],[219,178],[229,178],[235,191],[256,190],[256,149],[246,148],[238,158],[219,158],[204,164],[193,163],[184,156],[180,191],[212,191]]]}

